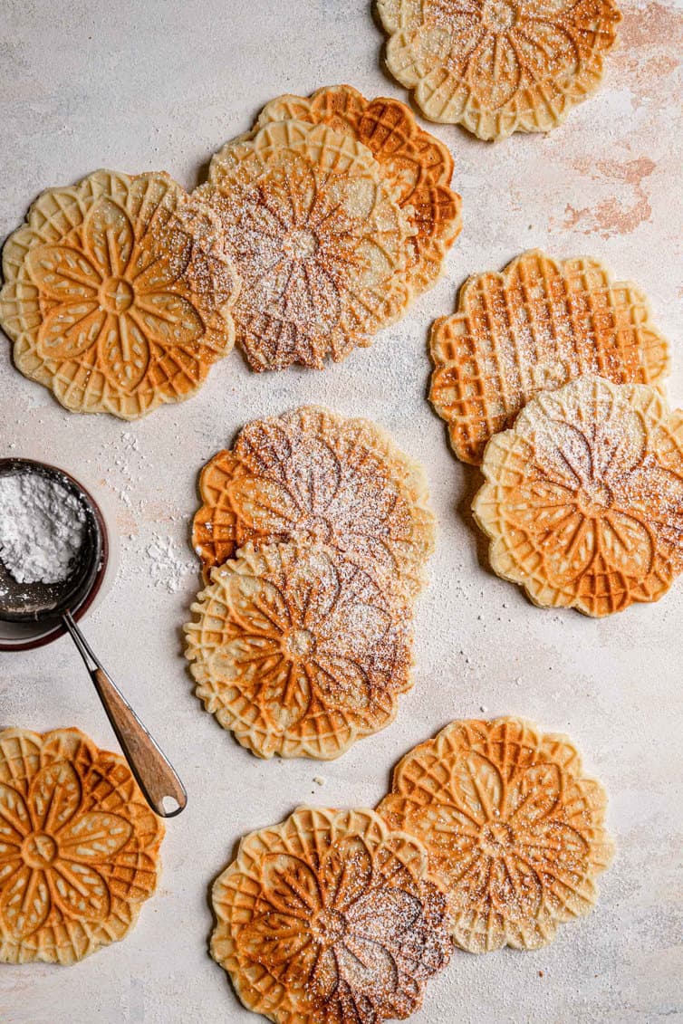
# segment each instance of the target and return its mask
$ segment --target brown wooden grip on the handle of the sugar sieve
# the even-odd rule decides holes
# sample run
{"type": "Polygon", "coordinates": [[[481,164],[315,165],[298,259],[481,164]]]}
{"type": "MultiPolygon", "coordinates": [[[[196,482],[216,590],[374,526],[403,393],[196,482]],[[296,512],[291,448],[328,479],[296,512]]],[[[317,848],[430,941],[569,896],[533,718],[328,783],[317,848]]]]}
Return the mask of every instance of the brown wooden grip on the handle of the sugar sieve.
{"type": "Polygon", "coordinates": [[[168,758],[104,670],[93,669],[90,675],[131,771],[153,811],[162,818],[179,814],[187,803],[187,794],[168,758]],[[171,802],[173,807],[167,809],[165,804],[171,802]]]}

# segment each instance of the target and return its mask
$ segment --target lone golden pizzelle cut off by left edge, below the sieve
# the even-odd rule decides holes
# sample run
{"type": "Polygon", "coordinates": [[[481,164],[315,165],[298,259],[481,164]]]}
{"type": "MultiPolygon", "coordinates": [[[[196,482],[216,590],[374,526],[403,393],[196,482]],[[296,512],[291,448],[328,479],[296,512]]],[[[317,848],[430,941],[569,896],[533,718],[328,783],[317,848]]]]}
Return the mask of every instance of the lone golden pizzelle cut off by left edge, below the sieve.
{"type": "Polygon", "coordinates": [[[0,961],[74,964],[122,939],[163,836],[119,755],[77,729],[0,732],[0,961]]]}

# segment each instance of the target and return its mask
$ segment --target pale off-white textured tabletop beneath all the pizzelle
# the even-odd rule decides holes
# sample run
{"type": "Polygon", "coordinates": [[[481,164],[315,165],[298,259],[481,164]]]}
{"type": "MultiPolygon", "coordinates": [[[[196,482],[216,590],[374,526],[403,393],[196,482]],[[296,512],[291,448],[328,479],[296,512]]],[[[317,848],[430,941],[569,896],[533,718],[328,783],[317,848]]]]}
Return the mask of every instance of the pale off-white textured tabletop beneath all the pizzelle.
{"type": "MultiPolygon", "coordinates": [[[[212,153],[281,93],[346,80],[368,96],[404,95],[380,70],[367,0],[4,0],[2,13],[3,236],[40,189],[101,165],[161,167],[195,185],[212,153]]],[[[67,413],[11,369],[0,344],[0,454],[61,463],[109,496],[120,572],[85,625],[189,790],[167,829],[160,892],[136,928],[73,969],[0,970],[3,1024],[256,1020],[207,951],[208,886],[236,841],[300,803],[372,806],[413,743],[453,718],[502,714],[575,740],[607,787],[616,859],[590,916],[538,952],[455,954],[413,1019],[683,1021],[683,587],[605,622],[532,607],[480,566],[485,542],[477,547],[466,512],[480,477],[451,455],[425,397],[431,318],[452,311],[469,273],[539,246],[559,258],[595,255],[645,291],[673,343],[672,406],[683,402],[682,51],[680,0],[629,4],[603,87],[548,138],[488,145],[435,127],[463,196],[447,278],[371,349],[323,374],[251,374],[233,353],[199,395],[130,425],[67,413]],[[246,421],[306,402],[389,430],[426,465],[439,517],[431,585],[418,602],[416,685],[393,725],[324,766],[259,762],[240,748],[193,695],[179,634],[200,584],[186,546],[199,469],[246,421]]],[[[102,746],[115,742],[67,639],[0,654],[0,724],[78,725],[102,746]]]]}

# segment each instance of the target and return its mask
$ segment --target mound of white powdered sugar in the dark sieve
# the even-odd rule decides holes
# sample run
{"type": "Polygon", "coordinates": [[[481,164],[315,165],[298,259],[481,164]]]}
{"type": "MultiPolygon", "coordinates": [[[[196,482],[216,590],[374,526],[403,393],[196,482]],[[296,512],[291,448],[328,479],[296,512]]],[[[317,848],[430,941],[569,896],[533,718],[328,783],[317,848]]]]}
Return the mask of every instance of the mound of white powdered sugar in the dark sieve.
{"type": "Polygon", "coordinates": [[[0,476],[0,560],[17,583],[61,583],[83,544],[76,495],[38,473],[0,476]]]}

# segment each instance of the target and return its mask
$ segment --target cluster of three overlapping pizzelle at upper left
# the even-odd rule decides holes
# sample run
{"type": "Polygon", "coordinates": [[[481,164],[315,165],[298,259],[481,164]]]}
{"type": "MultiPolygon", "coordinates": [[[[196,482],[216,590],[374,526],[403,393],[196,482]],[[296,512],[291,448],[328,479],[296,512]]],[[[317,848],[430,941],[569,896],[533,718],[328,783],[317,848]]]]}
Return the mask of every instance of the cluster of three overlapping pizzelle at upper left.
{"type": "Polygon", "coordinates": [[[14,365],[69,410],[126,420],[253,370],[344,358],[431,287],[461,227],[453,159],[403,103],[281,96],[188,196],[100,170],[50,188],[3,250],[14,365]]]}

